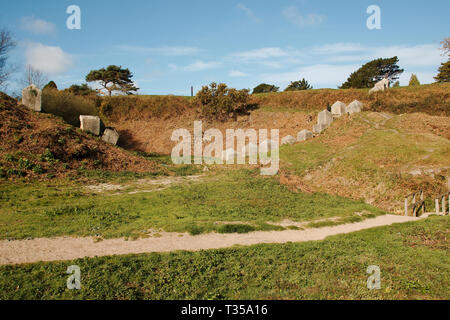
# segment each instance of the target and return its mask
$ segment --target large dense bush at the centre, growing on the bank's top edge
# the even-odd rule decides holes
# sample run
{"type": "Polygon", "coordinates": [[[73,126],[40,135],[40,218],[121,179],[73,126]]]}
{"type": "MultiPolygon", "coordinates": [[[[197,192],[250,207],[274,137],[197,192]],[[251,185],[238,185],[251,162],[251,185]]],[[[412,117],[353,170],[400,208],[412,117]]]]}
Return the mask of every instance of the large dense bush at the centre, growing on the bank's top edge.
{"type": "Polygon", "coordinates": [[[254,107],[249,104],[249,91],[228,88],[224,83],[213,82],[202,87],[197,93],[196,101],[206,118],[219,121],[229,118],[236,120],[239,114],[247,114],[254,107]]]}

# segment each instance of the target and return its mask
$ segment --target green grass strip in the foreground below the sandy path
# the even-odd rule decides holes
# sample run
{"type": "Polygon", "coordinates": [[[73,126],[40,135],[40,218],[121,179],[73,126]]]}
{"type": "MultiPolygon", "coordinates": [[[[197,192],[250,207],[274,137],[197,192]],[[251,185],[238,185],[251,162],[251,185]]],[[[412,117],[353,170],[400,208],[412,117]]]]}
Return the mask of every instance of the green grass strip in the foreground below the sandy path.
{"type": "Polygon", "coordinates": [[[324,241],[85,258],[0,267],[0,299],[443,299],[450,285],[448,217],[324,241]],[[81,269],[68,290],[67,267],[81,269]],[[368,290],[368,266],[381,289],[368,290]]]}

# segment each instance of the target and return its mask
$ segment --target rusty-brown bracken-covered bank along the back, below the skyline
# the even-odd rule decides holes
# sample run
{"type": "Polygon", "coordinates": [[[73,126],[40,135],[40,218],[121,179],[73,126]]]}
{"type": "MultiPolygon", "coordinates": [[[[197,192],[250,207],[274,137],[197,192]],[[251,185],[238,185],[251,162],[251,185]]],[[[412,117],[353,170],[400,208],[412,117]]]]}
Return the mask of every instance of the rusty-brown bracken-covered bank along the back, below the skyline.
{"type": "MultiPolygon", "coordinates": [[[[217,128],[225,132],[232,128],[280,129],[280,136],[296,136],[302,129],[312,129],[317,112],[336,101],[364,103],[365,111],[390,114],[425,113],[430,116],[450,116],[450,84],[392,88],[388,92],[369,95],[367,89],[306,90],[252,95],[259,108],[237,122],[204,121],[204,130],[217,128]]],[[[193,131],[194,120],[201,119],[192,100],[173,96],[135,96],[105,98],[102,103],[104,120],[116,127],[124,137],[121,145],[127,149],[170,154],[175,143],[170,141],[173,130],[193,131]]]]}

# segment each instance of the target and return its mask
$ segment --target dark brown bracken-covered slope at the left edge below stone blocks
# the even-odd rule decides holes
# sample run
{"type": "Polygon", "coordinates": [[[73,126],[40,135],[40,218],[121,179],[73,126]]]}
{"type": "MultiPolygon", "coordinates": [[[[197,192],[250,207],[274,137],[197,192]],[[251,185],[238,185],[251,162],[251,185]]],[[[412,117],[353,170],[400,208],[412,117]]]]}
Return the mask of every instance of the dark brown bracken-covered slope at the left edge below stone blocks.
{"type": "Polygon", "coordinates": [[[104,143],[0,92],[0,177],[76,175],[78,170],[157,172],[154,162],[104,143]]]}

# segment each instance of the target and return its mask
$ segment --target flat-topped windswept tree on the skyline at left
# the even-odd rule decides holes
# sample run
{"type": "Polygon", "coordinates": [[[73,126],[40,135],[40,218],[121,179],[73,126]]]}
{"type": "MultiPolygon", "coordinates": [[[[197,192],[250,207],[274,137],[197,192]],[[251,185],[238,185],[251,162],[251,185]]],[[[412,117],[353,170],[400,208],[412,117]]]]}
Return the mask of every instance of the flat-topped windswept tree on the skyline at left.
{"type": "Polygon", "coordinates": [[[86,81],[99,83],[111,96],[115,91],[122,94],[137,92],[139,88],[135,87],[132,77],[130,70],[111,65],[106,69],[92,70],[86,76],[86,81]]]}

